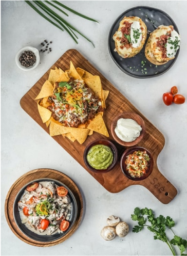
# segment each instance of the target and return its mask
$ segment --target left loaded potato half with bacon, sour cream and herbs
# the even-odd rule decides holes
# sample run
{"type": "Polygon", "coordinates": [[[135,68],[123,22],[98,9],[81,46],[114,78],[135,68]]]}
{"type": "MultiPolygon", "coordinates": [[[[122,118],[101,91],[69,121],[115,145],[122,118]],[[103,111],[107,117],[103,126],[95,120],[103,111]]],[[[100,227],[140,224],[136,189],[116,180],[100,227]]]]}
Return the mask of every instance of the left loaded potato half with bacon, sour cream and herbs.
{"type": "Polygon", "coordinates": [[[138,54],[147,38],[147,27],[139,17],[124,17],[113,35],[115,49],[122,58],[131,58],[138,54]]]}

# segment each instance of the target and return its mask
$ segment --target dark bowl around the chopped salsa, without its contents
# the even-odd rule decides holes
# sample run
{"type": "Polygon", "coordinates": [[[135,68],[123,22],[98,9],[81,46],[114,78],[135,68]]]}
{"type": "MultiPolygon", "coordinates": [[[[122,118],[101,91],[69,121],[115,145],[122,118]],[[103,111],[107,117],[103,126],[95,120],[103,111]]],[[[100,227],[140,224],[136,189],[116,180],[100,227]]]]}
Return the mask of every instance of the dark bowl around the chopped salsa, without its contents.
{"type": "Polygon", "coordinates": [[[153,166],[154,166],[154,159],[153,159],[152,154],[147,149],[142,148],[142,147],[132,147],[132,148],[126,149],[124,151],[124,153],[122,154],[121,159],[120,159],[120,166],[121,166],[121,170],[122,170],[123,174],[128,179],[133,180],[133,181],[141,181],[141,180],[146,179],[152,173],[153,166]],[[148,154],[148,156],[150,158],[148,161],[148,168],[141,177],[132,177],[132,175],[130,175],[130,173],[127,170],[127,165],[125,164],[126,157],[130,154],[133,154],[135,151],[142,151],[142,152],[146,151],[146,153],[148,154]]]}

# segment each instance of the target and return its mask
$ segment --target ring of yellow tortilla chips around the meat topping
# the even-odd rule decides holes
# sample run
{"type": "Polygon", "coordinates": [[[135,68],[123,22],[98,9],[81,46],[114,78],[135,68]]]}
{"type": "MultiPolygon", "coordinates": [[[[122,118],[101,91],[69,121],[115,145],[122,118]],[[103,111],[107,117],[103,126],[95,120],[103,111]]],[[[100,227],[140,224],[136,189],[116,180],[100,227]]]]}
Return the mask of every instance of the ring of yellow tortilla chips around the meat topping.
{"type": "Polygon", "coordinates": [[[47,107],[50,103],[47,101],[48,97],[53,94],[55,82],[68,82],[70,77],[74,79],[83,80],[84,83],[99,97],[102,102],[102,107],[105,108],[105,100],[109,91],[103,90],[100,77],[92,75],[89,72],[81,69],[74,68],[73,63],[70,61],[70,69],[63,71],[62,69],[51,69],[48,80],[43,84],[42,89],[35,100],[38,101],[38,110],[43,123],[49,126],[50,136],[62,135],[69,138],[71,141],[77,140],[82,144],[88,135],[93,132],[98,132],[106,137],[109,137],[106,125],[103,120],[103,112],[97,113],[94,119],[89,120],[85,124],[80,124],[78,127],[67,127],[64,124],[54,120],[52,113],[47,107]]]}

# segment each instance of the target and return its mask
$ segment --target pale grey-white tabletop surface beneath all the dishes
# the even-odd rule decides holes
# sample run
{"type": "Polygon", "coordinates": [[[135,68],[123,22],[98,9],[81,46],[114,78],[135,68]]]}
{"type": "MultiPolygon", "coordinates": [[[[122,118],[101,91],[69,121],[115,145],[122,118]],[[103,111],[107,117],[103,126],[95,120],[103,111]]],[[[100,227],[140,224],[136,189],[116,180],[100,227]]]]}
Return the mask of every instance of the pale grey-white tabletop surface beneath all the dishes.
{"type": "MultiPolygon", "coordinates": [[[[79,39],[72,39],[41,18],[22,0],[1,1],[1,252],[3,256],[32,255],[159,255],[171,256],[166,244],[155,241],[148,230],[135,234],[130,218],[135,207],[148,207],[176,221],[173,229],[186,239],[187,234],[187,102],[166,106],[162,94],[174,85],[187,100],[187,34],[186,0],[95,0],[67,1],[64,4],[95,18],[100,24],[70,14],[79,27],[95,43],[95,48],[79,39]],[[111,59],[107,37],[118,16],[135,6],[151,6],[169,14],[178,26],[181,49],[174,66],[165,74],[151,79],[137,79],[123,73],[111,59]],[[41,63],[31,72],[17,68],[15,55],[21,47],[39,47],[43,40],[52,40],[52,52],[41,54],[41,63]],[[165,137],[165,146],[157,159],[159,170],[178,191],[169,203],[162,204],[146,188],[131,186],[118,194],[109,193],[61,146],[58,145],[20,106],[23,95],[68,49],[77,49],[114,86],[151,121],[165,137]],[[84,214],[77,231],[62,244],[34,247],[17,238],[5,218],[5,198],[11,185],[24,173],[37,168],[52,168],[67,174],[81,190],[84,214]],[[125,238],[104,241],[100,231],[109,215],[117,215],[129,225],[125,238]]],[[[115,185],[115,184],[114,184],[115,185]]],[[[177,249],[179,255],[179,251],[177,249]]]]}

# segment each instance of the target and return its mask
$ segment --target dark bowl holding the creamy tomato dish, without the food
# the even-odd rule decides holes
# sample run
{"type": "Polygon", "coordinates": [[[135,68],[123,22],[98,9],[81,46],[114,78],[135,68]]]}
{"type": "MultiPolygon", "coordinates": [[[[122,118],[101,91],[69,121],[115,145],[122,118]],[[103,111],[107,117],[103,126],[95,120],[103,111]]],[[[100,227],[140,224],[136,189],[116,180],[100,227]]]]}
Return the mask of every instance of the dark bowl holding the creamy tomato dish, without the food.
{"type": "Polygon", "coordinates": [[[62,182],[59,182],[57,180],[53,180],[53,179],[38,179],[38,180],[33,180],[30,181],[28,184],[26,184],[17,194],[15,200],[14,200],[14,205],[13,205],[13,215],[14,215],[14,220],[17,224],[17,227],[20,228],[20,230],[29,238],[35,240],[35,241],[39,241],[39,242],[52,242],[55,241],[61,237],[63,237],[65,234],[67,234],[69,232],[69,230],[73,227],[74,222],[76,221],[77,218],[77,214],[78,214],[78,207],[77,207],[77,202],[76,202],[76,198],[74,197],[72,191],[62,182]],[[21,218],[20,218],[20,213],[18,210],[18,201],[20,201],[22,195],[24,194],[24,190],[26,189],[27,185],[29,185],[32,182],[42,182],[42,181],[53,181],[55,182],[55,184],[57,184],[58,186],[64,186],[65,188],[67,188],[68,190],[68,196],[71,199],[71,204],[72,204],[72,208],[71,208],[71,216],[69,219],[70,225],[69,228],[62,232],[62,233],[56,233],[53,235],[38,235],[32,231],[30,231],[25,224],[22,223],[21,218]]]}

